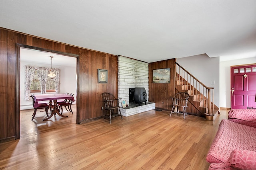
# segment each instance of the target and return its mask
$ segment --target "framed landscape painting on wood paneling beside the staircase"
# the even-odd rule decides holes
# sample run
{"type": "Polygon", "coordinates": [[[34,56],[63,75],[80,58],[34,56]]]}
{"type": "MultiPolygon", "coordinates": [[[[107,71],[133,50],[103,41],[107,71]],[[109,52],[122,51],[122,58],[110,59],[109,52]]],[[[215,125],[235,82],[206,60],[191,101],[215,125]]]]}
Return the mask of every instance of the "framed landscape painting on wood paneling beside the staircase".
{"type": "Polygon", "coordinates": [[[153,70],[153,83],[170,83],[170,68],[153,70]]]}

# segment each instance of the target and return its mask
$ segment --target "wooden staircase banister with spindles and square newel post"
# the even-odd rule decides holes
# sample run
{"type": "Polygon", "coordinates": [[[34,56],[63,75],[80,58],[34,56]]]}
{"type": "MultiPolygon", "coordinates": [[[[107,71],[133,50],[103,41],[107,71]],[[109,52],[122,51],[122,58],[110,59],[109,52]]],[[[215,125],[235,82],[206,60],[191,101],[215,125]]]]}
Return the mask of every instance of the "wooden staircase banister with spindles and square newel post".
{"type": "Polygon", "coordinates": [[[213,87],[204,85],[178,63],[176,63],[176,81],[184,86],[184,90],[187,90],[190,96],[194,96],[194,100],[202,101],[202,107],[206,107],[205,115],[214,115],[213,87]]]}

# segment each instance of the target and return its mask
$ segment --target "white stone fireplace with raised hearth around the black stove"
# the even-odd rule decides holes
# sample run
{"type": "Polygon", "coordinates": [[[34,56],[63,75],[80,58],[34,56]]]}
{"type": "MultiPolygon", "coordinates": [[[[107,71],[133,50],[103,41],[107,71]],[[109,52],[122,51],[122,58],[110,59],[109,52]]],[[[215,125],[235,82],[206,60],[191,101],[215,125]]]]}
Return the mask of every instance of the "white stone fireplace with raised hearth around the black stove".
{"type": "MultiPolygon", "coordinates": [[[[130,106],[134,101],[130,102],[129,89],[135,88],[145,88],[146,94],[148,94],[148,63],[118,56],[118,98],[122,98],[130,106]]],[[[146,96],[146,100],[148,101],[148,95],[146,96]]],[[[122,107],[121,103],[120,106],[122,107]]],[[[155,109],[155,103],[149,103],[149,105],[147,104],[142,109],[134,109],[132,108],[132,113],[122,113],[122,115],[129,116],[141,113],[142,111],[155,109]]],[[[121,112],[122,110],[127,112],[128,109],[121,108],[121,112]]]]}

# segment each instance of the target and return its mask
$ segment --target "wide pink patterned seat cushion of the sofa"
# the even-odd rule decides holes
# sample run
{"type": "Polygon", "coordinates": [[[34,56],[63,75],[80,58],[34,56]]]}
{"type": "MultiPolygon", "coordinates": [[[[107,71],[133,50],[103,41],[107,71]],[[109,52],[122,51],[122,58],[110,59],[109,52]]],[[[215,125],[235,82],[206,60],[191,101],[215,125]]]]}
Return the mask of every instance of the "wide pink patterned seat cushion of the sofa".
{"type": "Polygon", "coordinates": [[[206,161],[225,162],[234,149],[256,151],[256,128],[223,119],[208,151],[206,161]]]}

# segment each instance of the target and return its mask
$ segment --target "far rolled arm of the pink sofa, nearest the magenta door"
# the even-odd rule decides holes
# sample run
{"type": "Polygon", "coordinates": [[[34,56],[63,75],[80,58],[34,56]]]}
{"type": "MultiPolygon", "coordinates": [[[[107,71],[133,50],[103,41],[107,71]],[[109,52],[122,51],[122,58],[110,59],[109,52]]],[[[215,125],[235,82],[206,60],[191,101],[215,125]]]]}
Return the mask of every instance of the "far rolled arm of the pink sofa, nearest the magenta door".
{"type": "Polygon", "coordinates": [[[256,127],[256,109],[231,109],[228,119],[236,123],[256,127]]]}

